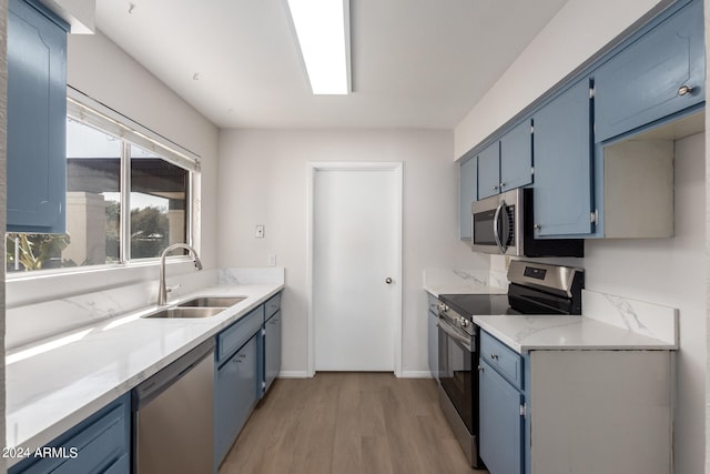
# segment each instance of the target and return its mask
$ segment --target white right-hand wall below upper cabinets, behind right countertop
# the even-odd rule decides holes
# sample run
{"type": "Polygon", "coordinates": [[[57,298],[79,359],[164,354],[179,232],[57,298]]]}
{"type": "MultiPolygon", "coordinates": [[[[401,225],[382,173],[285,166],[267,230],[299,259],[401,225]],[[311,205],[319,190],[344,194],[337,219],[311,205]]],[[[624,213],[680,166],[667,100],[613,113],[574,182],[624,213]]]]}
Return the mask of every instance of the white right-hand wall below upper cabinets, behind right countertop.
{"type": "MultiPolygon", "coordinates": [[[[704,133],[676,142],[676,235],[589,240],[586,288],[680,310],[676,472],[703,472],[706,383],[704,133]]],[[[643,396],[643,394],[638,394],[643,396]]]]}

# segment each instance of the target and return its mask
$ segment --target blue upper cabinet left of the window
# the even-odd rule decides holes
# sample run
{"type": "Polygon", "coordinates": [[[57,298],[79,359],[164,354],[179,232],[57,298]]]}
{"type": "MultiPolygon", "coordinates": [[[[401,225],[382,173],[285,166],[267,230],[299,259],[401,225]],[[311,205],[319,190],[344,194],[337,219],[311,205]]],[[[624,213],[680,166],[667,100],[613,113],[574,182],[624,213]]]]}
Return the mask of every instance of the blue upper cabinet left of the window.
{"type": "Polygon", "coordinates": [[[9,2],[9,232],[65,229],[68,29],[39,2],[9,2]]]}

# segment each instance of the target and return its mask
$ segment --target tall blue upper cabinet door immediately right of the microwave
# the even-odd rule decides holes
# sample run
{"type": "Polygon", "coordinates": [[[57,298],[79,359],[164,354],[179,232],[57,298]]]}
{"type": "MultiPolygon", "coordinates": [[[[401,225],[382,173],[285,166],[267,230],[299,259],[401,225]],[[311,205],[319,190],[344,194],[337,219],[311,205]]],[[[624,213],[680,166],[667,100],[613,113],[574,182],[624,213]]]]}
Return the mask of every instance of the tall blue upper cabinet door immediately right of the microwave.
{"type": "Polygon", "coordinates": [[[592,232],[590,113],[585,79],[534,117],[536,238],[592,232]]]}

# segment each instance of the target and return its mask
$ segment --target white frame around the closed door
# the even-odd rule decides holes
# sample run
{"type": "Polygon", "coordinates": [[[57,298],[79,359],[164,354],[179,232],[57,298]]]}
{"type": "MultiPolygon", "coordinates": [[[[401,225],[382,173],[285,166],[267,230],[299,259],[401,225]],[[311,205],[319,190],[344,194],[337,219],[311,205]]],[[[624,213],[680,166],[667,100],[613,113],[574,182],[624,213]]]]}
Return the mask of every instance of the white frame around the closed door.
{"type": "Polygon", "coordinates": [[[403,163],[400,161],[347,161],[347,162],[308,162],[308,205],[307,205],[307,251],[306,251],[306,294],[307,294],[307,346],[308,362],[307,376],[315,375],[315,314],[313,311],[313,235],[315,231],[315,177],[318,171],[392,171],[395,179],[395,209],[397,222],[395,225],[395,239],[397,249],[394,274],[395,281],[395,375],[402,376],[402,216],[403,216],[403,163]]]}

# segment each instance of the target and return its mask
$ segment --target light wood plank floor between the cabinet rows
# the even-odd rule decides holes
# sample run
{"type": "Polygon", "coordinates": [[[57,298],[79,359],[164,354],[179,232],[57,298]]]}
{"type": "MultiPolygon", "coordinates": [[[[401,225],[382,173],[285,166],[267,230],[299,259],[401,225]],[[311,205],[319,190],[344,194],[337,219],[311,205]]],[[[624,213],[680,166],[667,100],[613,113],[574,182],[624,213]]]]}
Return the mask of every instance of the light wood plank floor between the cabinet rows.
{"type": "Polygon", "coordinates": [[[277,380],[220,474],[486,474],[471,470],[432,380],[318,373],[277,380]]]}

